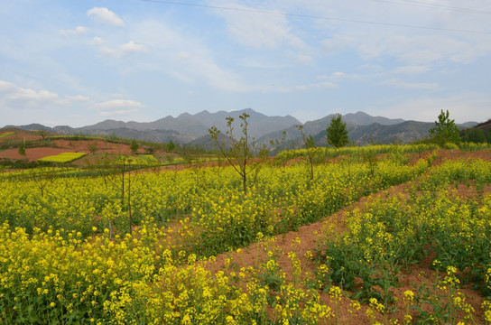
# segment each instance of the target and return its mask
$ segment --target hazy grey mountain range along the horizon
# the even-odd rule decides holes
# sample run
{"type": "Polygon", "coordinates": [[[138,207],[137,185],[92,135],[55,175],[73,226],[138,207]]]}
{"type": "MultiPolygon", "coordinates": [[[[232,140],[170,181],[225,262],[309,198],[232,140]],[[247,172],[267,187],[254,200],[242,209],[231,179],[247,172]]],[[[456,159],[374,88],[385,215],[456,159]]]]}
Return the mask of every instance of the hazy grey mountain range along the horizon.
{"type": "MultiPolygon", "coordinates": [[[[49,127],[40,124],[32,125],[7,125],[5,127],[17,127],[25,130],[46,130],[60,135],[116,135],[118,137],[134,138],[138,140],[168,143],[186,144],[210,148],[212,141],[208,129],[215,125],[223,133],[227,131],[227,117],[234,118],[234,134],[240,136],[241,127],[238,116],[248,114],[248,132],[259,144],[269,144],[271,140],[284,138],[285,143],[292,146],[300,146],[301,132],[297,125],[301,122],[293,116],[265,116],[255,112],[251,108],[236,111],[218,111],[210,113],[206,110],[195,115],[183,113],[180,116],[166,116],[153,122],[122,122],[105,120],[95,125],[83,127],[70,127],[58,125],[49,127]]],[[[305,135],[312,135],[316,144],[326,145],[327,132],[331,118],[335,114],[329,114],[320,119],[306,122],[303,125],[305,135]]],[[[355,144],[394,142],[409,143],[429,135],[429,130],[434,123],[405,121],[401,118],[387,118],[383,116],[370,116],[364,112],[349,113],[342,116],[347,123],[348,137],[355,144]]],[[[477,125],[476,122],[468,122],[459,125],[461,128],[477,125]]]]}

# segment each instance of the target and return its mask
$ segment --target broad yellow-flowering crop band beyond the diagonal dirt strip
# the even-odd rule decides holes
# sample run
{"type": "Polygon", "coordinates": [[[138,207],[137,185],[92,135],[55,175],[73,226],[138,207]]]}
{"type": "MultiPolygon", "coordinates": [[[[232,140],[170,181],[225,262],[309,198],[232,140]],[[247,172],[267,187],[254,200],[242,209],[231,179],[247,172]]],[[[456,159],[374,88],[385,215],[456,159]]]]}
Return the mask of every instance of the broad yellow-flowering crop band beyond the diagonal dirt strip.
{"type": "Polygon", "coordinates": [[[375,165],[322,164],[314,181],[302,164],[264,166],[251,180],[246,197],[230,167],[92,178],[39,175],[3,181],[0,220],[28,233],[35,227],[63,228],[83,237],[91,235],[93,227],[124,236],[132,231],[130,225],[161,229],[181,222],[180,241],[187,249],[214,255],[251,243],[257,232],[274,235],[314,222],[370,192],[411,180],[429,164],[425,159],[412,166],[403,163],[389,157],[375,165]]]}

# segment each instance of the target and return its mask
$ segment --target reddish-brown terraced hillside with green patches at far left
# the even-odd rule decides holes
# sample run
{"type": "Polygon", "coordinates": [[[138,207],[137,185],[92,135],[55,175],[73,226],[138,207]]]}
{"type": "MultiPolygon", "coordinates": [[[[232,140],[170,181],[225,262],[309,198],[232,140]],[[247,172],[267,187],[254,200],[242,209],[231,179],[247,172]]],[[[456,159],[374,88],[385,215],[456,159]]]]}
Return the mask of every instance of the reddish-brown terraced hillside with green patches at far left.
{"type": "MultiPolygon", "coordinates": [[[[137,132],[128,129],[129,134],[137,132]]],[[[158,131],[156,131],[158,132],[158,131]]],[[[189,159],[202,157],[195,151],[174,147],[169,144],[154,144],[151,142],[136,142],[138,148],[132,150],[129,138],[118,138],[115,135],[107,137],[85,135],[57,135],[51,132],[30,131],[17,128],[0,129],[0,167],[3,171],[35,167],[39,164],[60,163],[62,166],[90,167],[97,163],[125,155],[134,161],[135,165],[161,166],[189,162],[189,159]],[[24,145],[24,153],[19,150],[24,145]],[[79,157],[68,162],[59,161],[52,156],[80,153],[79,157]],[[50,157],[46,161],[46,157],[50,157]],[[187,157],[186,159],[184,159],[187,157]],[[192,157],[192,158],[191,158],[192,157]],[[48,163],[46,163],[48,162],[48,163]]],[[[77,154],[75,154],[77,155],[77,154]]]]}

